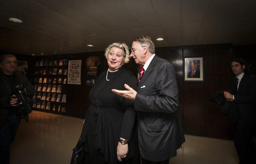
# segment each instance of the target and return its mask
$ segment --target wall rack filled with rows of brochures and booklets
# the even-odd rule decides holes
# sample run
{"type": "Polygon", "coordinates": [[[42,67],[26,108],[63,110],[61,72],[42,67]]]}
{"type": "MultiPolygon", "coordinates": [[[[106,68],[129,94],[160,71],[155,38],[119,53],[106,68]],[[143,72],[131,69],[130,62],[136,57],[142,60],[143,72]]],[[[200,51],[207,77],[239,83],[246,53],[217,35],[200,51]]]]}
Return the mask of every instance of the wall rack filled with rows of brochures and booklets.
{"type": "Polygon", "coordinates": [[[66,57],[35,59],[33,98],[41,101],[33,104],[34,110],[66,113],[68,60],[66,57]]]}

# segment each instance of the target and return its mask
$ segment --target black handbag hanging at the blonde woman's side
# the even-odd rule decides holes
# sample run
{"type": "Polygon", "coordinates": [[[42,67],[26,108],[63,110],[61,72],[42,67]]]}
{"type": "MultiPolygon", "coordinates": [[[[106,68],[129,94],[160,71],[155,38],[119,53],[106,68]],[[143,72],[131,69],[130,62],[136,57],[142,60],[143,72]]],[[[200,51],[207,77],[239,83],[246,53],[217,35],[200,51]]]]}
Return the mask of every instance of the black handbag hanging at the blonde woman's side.
{"type": "Polygon", "coordinates": [[[79,138],[76,147],[73,149],[70,164],[83,164],[84,158],[85,158],[85,150],[83,149],[83,143],[81,143],[79,138]]]}

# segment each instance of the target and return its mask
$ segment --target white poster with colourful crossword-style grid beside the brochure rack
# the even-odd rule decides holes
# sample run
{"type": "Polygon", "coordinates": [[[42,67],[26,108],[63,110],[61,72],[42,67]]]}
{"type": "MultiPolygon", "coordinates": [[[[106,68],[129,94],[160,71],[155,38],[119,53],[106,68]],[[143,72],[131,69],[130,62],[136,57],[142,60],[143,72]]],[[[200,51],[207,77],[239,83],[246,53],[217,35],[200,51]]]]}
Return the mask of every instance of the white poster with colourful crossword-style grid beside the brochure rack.
{"type": "Polygon", "coordinates": [[[81,84],[82,60],[69,60],[68,84],[81,84]]]}

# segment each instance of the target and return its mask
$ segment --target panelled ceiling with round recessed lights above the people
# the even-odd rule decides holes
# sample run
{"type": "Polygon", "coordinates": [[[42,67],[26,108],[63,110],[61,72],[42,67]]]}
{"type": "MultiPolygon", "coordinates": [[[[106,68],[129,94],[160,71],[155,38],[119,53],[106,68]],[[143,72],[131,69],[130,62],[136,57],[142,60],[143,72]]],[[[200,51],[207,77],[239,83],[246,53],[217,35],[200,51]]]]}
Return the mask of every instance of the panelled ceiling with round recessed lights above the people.
{"type": "Polygon", "coordinates": [[[141,35],[151,36],[156,47],[256,44],[255,0],[0,0],[0,4],[0,28],[11,29],[0,31],[0,52],[96,52],[113,42],[131,46],[141,35]],[[158,37],[164,40],[156,41],[158,37]]]}

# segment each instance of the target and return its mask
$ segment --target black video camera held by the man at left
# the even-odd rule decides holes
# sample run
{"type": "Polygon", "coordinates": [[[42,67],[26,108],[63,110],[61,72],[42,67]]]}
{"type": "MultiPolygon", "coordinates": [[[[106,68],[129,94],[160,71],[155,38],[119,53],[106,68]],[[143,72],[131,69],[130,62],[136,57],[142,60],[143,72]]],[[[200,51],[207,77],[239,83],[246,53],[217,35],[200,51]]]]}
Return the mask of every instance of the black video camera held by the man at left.
{"type": "Polygon", "coordinates": [[[18,99],[17,103],[15,103],[14,105],[16,105],[16,107],[20,107],[18,109],[19,112],[26,111],[27,113],[31,113],[32,104],[36,102],[40,102],[40,98],[34,98],[34,99],[29,98],[25,92],[24,83],[20,83],[20,86],[21,86],[21,89],[15,88],[11,93],[11,95],[13,94],[16,95],[16,97],[12,97],[12,98],[18,99]]]}

